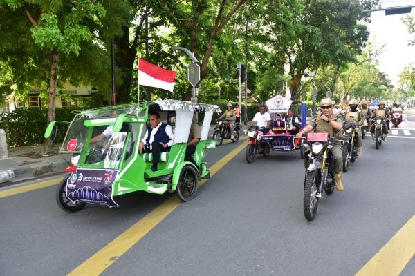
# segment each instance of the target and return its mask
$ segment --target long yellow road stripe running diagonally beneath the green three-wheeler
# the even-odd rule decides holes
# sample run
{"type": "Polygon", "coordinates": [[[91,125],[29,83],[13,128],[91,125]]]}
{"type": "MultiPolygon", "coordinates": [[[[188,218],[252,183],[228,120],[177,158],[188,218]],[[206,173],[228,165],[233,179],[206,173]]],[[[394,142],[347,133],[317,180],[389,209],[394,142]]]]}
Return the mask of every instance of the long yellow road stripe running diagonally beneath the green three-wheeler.
{"type": "MultiPolygon", "coordinates": [[[[237,155],[246,144],[241,144],[228,155],[217,161],[210,167],[210,175],[213,176],[218,172],[230,159],[237,155]]],[[[202,186],[205,180],[202,180],[199,186],[202,186]]],[[[136,224],[127,229],[124,233],[113,239],[112,242],[104,246],[97,253],[92,255],[84,263],[71,271],[68,275],[100,275],[116,259],[127,252],[134,244],[140,241],[149,231],[159,224],[167,215],[173,212],[181,204],[177,197],[170,197],[163,204],[151,211],[148,215],[137,221],[136,224]]]]}

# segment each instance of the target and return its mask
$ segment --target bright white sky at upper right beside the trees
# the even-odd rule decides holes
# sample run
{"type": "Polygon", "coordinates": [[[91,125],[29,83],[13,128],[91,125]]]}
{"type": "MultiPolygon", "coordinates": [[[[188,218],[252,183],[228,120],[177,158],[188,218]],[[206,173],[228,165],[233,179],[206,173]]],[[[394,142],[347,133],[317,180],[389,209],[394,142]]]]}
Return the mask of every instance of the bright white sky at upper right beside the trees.
{"type": "MultiPolygon", "coordinates": [[[[415,0],[382,0],[381,8],[391,6],[415,6],[415,0]]],[[[385,11],[372,12],[369,24],[369,40],[376,48],[385,45],[385,49],[379,57],[379,70],[387,74],[395,86],[398,86],[398,74],[405,66],[415,63],[415,46],[408,46],[411,34],[402,18],[415,16],[415,7],[410,14],[385,15],[385,11]]]]}

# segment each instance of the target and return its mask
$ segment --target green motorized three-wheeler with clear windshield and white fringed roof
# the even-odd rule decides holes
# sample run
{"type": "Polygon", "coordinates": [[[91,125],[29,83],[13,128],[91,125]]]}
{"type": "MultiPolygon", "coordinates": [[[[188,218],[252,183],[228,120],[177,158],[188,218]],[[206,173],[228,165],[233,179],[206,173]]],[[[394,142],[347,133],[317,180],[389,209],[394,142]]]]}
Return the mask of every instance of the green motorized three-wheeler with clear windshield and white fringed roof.
{"type": "MultiPolygon", "coordinates": [[[[210,178],[210,170],[203,161],[207,148],[216,142],[208,140],[213,112],[218,106],[189,101],[159,100],[136,105],[120,105],[75,112],[69,124],[60,152],[72,153],[72,164],[57,188],[57,204],[74,212],[86,203],[118,206],[114,197],[144,190],[148,193],[174,193],[183,201],[196,195],[200,179],[210,178]],[[156,170],[152,170],[152,153],[140,153],[140,140],[147,131],[149,114],[158,112],[160,119],[173,128],[174,139],[169,151],[161,152],[156,170]],[[185,161],[187,141],[192,119],[203,114],[201,139],[196,145],[192,161],[185,161]],[[112,135],[100,141],[107,129],[112,135]]],[[[48,138],[55,130],[49,124],[48,138]]],[[[104,136],[103,136],[104,137],[104,136]]]]}

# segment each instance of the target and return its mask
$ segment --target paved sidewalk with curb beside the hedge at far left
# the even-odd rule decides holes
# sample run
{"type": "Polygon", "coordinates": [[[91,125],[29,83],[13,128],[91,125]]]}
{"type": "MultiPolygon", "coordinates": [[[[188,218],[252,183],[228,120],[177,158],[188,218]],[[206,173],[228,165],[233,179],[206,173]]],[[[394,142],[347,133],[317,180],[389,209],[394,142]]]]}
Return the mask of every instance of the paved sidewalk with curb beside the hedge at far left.
{"type": "MultiPolygon", "coordinates": [[[[209,131],[212,138],[214,127],[209,131]]],[[[241,135],[246,134],[246,126],[241,124],[241,135]]],[[[55,155],[44,156],[44,145],[25,146],[8,150],[8,159],[0,159],[0,187],[8,186],[19,181],[46,177],[64,172],[71,165],[70,153],[60,154],[60,144],[55,144],[55,155]]]]}

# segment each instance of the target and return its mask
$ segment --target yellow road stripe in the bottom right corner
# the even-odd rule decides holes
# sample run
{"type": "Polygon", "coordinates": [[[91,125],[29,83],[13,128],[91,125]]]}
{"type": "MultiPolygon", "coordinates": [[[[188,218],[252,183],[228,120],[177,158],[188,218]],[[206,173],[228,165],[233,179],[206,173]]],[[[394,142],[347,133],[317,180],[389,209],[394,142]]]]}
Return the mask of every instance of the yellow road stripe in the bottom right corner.
{"type": "Polygon", "coordinates": [[[356,276],[399,275],[415,254],[415,215],[400,228],[356,276]]]}

